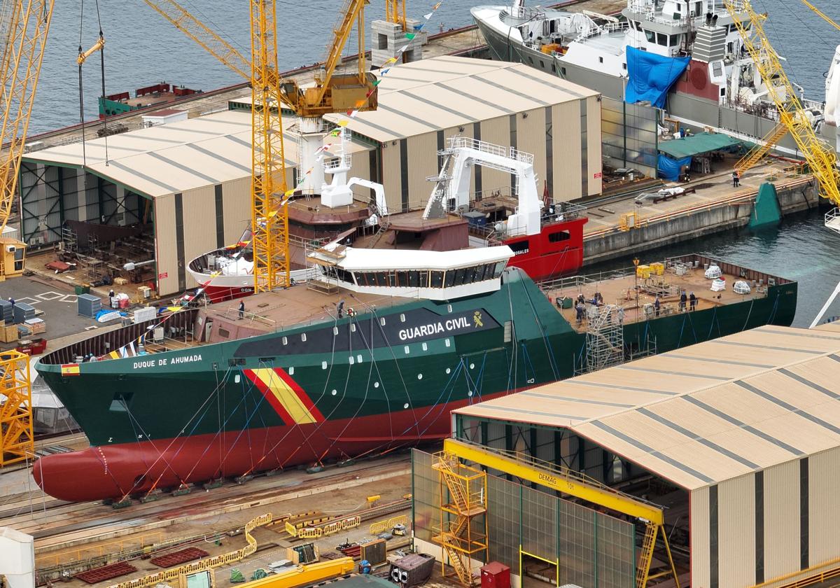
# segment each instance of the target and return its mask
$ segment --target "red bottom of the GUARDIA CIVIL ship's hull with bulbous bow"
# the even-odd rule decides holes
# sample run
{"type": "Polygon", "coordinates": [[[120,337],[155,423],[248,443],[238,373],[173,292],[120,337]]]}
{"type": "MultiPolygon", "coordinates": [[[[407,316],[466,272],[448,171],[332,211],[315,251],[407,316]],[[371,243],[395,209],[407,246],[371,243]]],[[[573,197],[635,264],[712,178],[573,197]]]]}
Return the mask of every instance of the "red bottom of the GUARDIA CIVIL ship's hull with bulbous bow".
{"type": "MultiPolygon", "coordinates": [[[[484,396],[484,400],[491,397],[484,396]]],[[[292,427],[102,445],[46,455],[35,482],[63,501],[119,500],[182,484],[375,454],[449,435],[449,412],[467,401],[292,427]]]]}

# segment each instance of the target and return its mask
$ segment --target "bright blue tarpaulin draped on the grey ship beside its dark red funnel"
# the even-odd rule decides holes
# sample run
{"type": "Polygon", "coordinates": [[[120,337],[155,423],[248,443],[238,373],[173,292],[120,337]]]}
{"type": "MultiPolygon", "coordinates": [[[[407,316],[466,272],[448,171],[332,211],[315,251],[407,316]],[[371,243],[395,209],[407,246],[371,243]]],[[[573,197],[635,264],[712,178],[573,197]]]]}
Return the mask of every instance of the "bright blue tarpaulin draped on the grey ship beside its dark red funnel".
{"type": "Polygon", "coordinates": [[[669,87],[688,67],[690,57],[664,57],[627,46],[627,89],[624,100],[630,104],[647,100],[664,108],[669,87]]]}

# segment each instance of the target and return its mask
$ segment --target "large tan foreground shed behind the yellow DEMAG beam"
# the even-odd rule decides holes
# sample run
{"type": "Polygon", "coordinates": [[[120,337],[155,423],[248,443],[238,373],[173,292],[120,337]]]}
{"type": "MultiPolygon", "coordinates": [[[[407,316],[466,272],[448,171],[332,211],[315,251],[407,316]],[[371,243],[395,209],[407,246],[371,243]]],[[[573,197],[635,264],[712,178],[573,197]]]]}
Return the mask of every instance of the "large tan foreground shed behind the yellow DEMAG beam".
{"type": "MultiPolygon", "coordinates": [[[[680,585],[810,585],[840,568],[838,368],[837,325],[757,328],[461,408],[453,436],[665,507],[680,585]]],[[[430,463],[415,458],[415,533],[427,542],[439,507],[430,463]]],[[[517,480],[491,473],[501,477],[488,476],[490,559],[518,575],[522,553],[541,549],[557,585],[632,585],[626,571],[604,574],[604,560],[633,569],[639,521],[628,548],[627,517],[601,521],[608,509],[547,485],[524,483],[517,500],[500,486],[517,480]]],[[[663,559],[657,549],[654,567],[663,559]]]]}

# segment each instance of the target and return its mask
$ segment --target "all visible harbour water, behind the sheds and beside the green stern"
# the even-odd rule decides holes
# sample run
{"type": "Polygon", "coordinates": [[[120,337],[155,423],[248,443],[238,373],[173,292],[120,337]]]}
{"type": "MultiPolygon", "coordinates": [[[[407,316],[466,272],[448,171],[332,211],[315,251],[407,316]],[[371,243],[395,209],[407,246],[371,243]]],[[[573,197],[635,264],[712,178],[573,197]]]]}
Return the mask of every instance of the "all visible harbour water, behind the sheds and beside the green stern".
{"type": "MultiPolygon", "coordinates": [[[[421,18],[434,3],[435,0],[407,0],[408,15],[421,18]]],[[[443,0],[429,21],[427,30],[436,32],[441,26],[449,29],[470,24],[470,7],[478,3],[494,2],[443,0]]],[[[538,2],[528,0],[528,3],[538,2]]],[[[813,3],[840,21],[840,2],[813,0],[813,3]]],[[[249,54],[247,3],[182,0],[181,4],[222,34],[243,55],[249,54]]],[[[277,0],[281,70],[323,59],[330,30],[343,4],[339,0],[309,0],[305,3],[277,0]]],[[[759,12],[769,13],[765,29],[776,50],[787,58],[785,68],[791,78],[805,87],[808,97],[822,101],[825,92],[823,74],[835,47],[840,44],[840,31],[823,22],[798,0],[754,0],[754,6],[759,12]]],[[[157,81],[176,82],[204,90],[240,81],[226,66],[205,53],[142,0],[99,0],[99,14],[107,39],[108,93],[134,90],[157,81]]],[[[372,0],[365,14],[369,20],[384,18],[384,0],[372,0]]],[[[76,55],[80,44],[80,24],[81,45],[87,49],[97,39],[96,3],[92,0],[83,3],[56,0],[29,129],[32,134],[76,123],[79,119],[76,55]]],[[[370,43],[370,38],[368,41],[370,43]]],[[[345,52],[354,53],[355,49],[356,41],[350,39],[345,52]]],[[[95,55],[84,68],[87,118],[96,117],[100,84],[99,58],[95,55]]],[[[760,233],[751,233],[746,229],[729,231],[650,255],[656,258],[694,251],[798,280],[800,297],[796,323],[801,325],[811,322],[840,280],[840,235],[823,228],[822,212],[786,218],[780,228],[760,233]]],[[[620,260],[612,265],[631,265],[631,260],[620,260]]],[[[833,311],[840,313],[840,303],[833,311]]]]}

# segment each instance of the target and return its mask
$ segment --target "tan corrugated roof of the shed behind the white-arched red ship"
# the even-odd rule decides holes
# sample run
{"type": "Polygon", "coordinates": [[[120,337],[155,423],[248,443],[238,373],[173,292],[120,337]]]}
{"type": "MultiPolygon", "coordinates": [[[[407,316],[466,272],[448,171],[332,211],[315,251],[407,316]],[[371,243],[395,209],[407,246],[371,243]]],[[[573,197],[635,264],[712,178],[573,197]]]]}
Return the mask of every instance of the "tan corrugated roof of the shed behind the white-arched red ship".
{"type": "Polygon", "coordinates": [[[348,126],[383,143],[598,95],[521,63],[448,55],[392,66],[379,79],[379,109],[348,126]]]}

